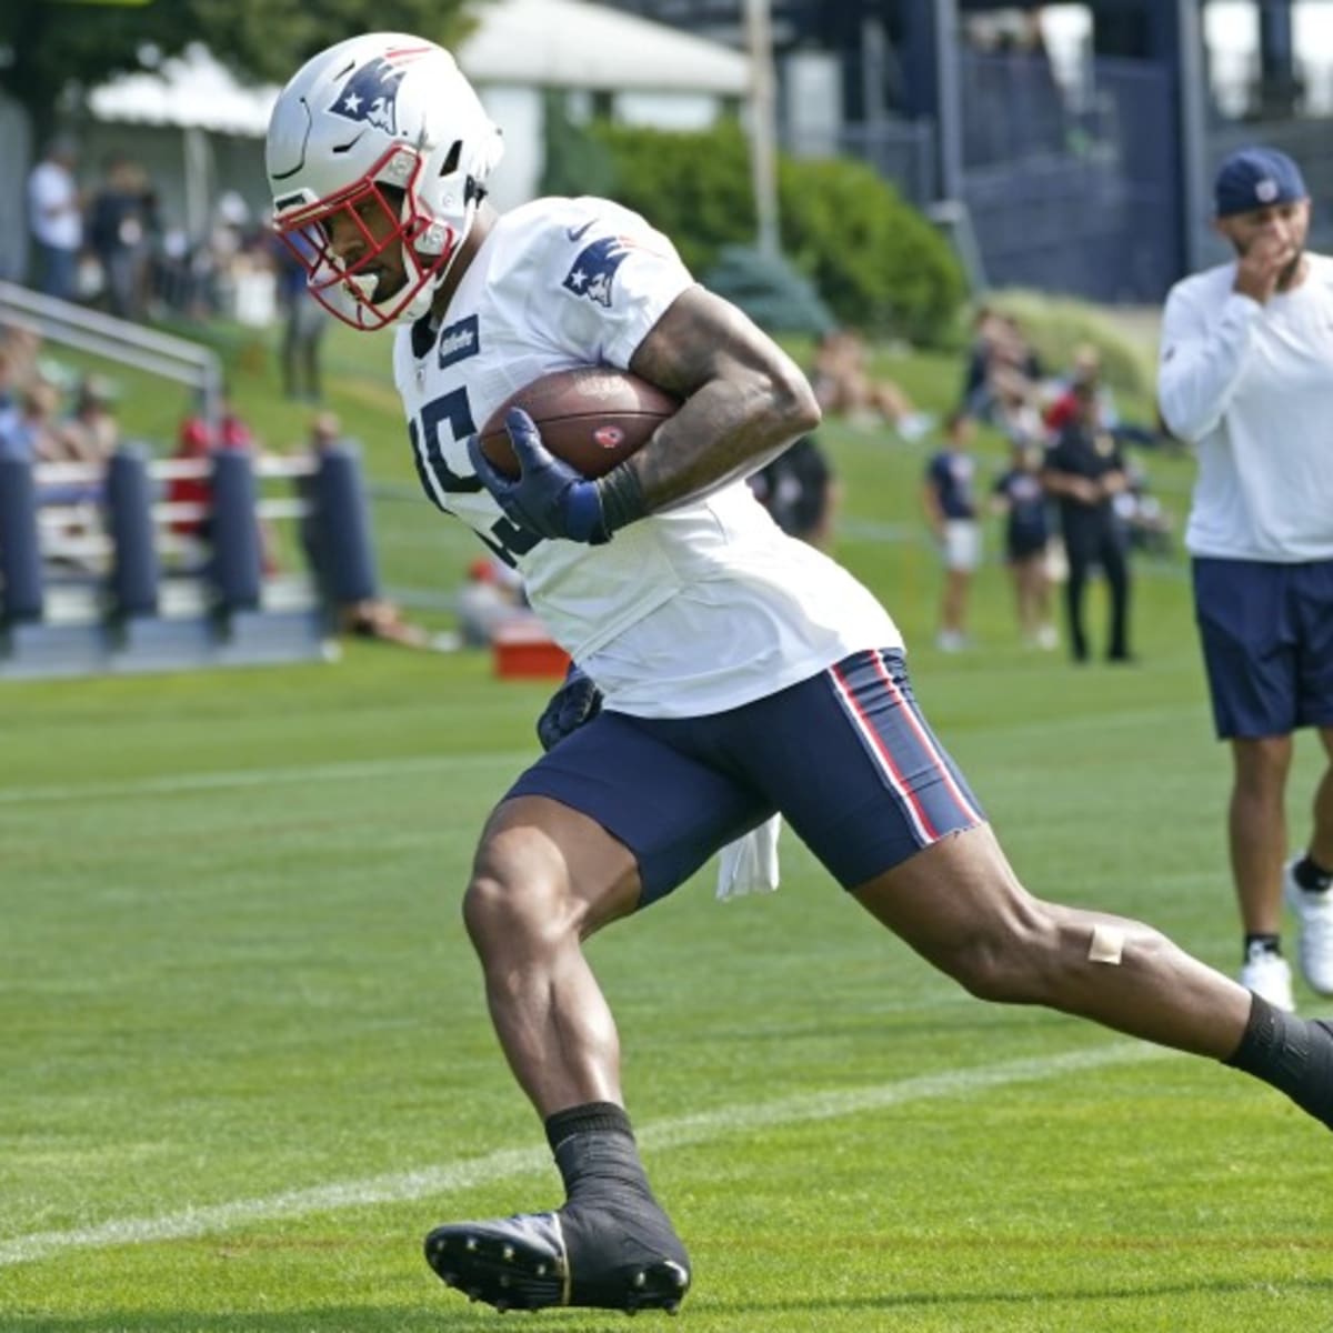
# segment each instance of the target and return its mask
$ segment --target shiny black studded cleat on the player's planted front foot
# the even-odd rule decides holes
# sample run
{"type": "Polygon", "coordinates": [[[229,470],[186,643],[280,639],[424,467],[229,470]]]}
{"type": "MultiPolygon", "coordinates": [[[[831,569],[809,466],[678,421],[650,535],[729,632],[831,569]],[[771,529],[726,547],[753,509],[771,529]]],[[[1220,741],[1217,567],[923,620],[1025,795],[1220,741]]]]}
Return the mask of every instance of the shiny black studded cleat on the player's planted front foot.
{"type": "Polygon", "coordinates": [[[431,1232],[425,1258],[447,1286],[497,1310],[576,1305],[674,1314],[689,1290],[684,1248],[665,1217],[660,1224],[644,1218],[647,1236],[665,1224],[665,1234],[648,1244],[628,1233],[625,1221],[567,1204],[555,1213],[456,1222],[431,1232]],[[567,1233],[580,1256],[576,1265],[567,1233]]]}

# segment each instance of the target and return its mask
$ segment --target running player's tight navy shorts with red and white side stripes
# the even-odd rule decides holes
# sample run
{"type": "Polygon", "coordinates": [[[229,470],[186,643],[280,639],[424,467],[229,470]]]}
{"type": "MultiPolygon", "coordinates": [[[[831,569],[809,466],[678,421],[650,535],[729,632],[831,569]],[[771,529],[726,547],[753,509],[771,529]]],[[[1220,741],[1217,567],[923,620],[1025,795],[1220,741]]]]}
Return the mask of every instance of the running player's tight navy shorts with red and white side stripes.
{"type": "Polygon", "coordinates": [[[921,716],[900,651],[853,653],[706,717],[603,712],[509,796],[549,796],[624,842],[641,905],[774,812],[845,889],[985,820],[921,716]]]}

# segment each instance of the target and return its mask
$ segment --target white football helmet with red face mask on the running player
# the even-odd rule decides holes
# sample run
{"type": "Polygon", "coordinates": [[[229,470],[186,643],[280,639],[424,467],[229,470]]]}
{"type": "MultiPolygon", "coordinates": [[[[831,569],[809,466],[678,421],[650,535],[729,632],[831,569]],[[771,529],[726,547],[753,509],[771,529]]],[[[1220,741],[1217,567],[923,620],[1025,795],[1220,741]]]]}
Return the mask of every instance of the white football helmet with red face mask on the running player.
{"type": "Polygon", "coordinates": [[[265,152],[273,228],[305,268],[311,295],[345,324],[419,319],[503,148],[443,47],[399,32],[351,37],[308,60],[273,107],[265,152]],[[387,185],[401,192],[401,207],[387,185]],[[383,239],[365,223],[376,208],[392,223],[383,239]],[[367,241],[351,264],[328,245],[335,215],[367,241]],[[376,304],[376,257],[391,245],[401,245],[408,281],[376,304]]]}

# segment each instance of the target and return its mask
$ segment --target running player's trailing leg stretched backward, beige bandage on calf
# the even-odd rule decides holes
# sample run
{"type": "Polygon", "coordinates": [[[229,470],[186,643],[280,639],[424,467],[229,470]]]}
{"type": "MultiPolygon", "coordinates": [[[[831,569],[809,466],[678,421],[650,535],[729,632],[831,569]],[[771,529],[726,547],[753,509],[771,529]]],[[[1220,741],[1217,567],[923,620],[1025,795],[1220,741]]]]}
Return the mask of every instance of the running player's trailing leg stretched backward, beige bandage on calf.
{"type": "Polygon", "coordinates": [[[1273,1009],[1150,926],[1022,888],[900,653],[854,655],[756,709],[754,724],[757,774],[777,773],[774,757],[801,741],[800,774],[770,790],[792,826],[866,910],[970,992],[1233,1062],[1333,1124],[1326,1028],[1273,1009]]]}

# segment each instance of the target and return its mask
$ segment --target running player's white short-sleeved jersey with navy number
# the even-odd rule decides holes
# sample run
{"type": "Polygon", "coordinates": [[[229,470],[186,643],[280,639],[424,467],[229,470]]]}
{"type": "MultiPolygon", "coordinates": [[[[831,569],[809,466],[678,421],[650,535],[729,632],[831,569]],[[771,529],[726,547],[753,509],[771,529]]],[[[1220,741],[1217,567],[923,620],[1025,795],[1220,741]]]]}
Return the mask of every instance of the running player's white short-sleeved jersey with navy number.
{"type": "Polygon", "coordinates": [[[581,365],[627,369],[692,285],[670,241],[600,199],[503,215],[440,327],[399,331],[395,377],[417,472],[440,508],[523,575],[552,637],[643,717],[722,712],[901,637],[845,569],[786,537],[744,481],[629,524],[600,547],[509,523],[468,461],[468,436],[525,384],[581,365]]]}

